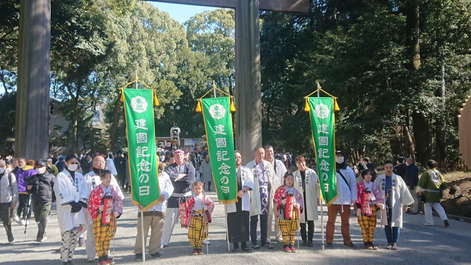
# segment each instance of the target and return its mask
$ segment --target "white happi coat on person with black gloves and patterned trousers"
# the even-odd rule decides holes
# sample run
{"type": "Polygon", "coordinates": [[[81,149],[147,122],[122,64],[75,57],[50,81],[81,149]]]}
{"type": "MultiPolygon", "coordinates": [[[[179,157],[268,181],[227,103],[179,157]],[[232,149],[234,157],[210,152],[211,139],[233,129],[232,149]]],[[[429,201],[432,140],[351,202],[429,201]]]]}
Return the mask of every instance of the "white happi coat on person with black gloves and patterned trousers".
{"type": "Polygon", "coordinates": [[[81,224],[87,224],[88,210],[82,208],[79,212],[72,213],[70,202],[88,201],[88,185],[85,178],[80,173],[75,173],[76,181],[73,182],[72,176],[67,169],[57,174],[54,181],[54,192],[57,200],[57,221],[60,232],[64,233],[78,227],[81,224]]]}

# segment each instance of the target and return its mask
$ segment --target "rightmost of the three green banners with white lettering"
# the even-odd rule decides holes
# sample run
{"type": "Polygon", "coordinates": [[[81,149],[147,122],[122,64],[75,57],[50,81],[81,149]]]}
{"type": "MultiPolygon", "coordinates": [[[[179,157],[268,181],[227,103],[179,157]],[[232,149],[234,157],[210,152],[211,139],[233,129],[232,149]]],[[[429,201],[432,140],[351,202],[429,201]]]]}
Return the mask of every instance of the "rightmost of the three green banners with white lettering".
{"type": "Polygon", "coordinates": [[[337,198],[334,99],[308,98],[308,101],[321,195],[330,205],[337,198]]]}

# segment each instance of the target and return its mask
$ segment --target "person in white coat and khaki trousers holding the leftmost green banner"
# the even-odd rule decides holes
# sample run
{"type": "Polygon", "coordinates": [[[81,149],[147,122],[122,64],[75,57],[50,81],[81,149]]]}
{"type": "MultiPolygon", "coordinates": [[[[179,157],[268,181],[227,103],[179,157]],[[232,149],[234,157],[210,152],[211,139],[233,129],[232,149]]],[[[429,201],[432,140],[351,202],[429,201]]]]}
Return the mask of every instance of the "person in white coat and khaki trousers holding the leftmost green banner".
{"type": "MultiPolygon", "coordinates": [[[[160,190],[160,197],[158,198],[157,204],[144,212],[144,242],[147,241],[147,234],[149,228],[151,228],[151,239],[149,240],[149,253],[153,258],[160,258],[160,240],[162,237],[163,222],[165,219],[164,209],[166,200],[170,198],[173,193],[173,185],[170,181],[170,177],[164,171],[165,163],[158,163],[158,188],[160,190]]],[[[142,211],[142,205],[137,205],[139,211],[142,211]]],[[[137,236],[134,243],[134,261],[142,261],[142,231],[141,231],[141,215],[137,214],[137,236]]]]}

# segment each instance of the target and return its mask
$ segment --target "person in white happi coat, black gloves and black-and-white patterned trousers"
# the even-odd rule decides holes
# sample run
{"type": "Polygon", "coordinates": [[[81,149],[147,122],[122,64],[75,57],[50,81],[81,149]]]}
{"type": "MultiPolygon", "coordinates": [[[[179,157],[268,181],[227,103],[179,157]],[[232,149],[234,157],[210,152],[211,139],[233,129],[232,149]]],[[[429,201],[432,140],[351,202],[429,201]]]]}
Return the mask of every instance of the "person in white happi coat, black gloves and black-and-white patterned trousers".
{"type": "Polygon", "coordinates": [[[57,174],[54,183],[61,233],[60,260],[64,265],[72,264],[79,227],[87,223],[88,186],[82,174],[76,172],[77,167],[77,157],[67,156],[65,169],[57,174]]]}

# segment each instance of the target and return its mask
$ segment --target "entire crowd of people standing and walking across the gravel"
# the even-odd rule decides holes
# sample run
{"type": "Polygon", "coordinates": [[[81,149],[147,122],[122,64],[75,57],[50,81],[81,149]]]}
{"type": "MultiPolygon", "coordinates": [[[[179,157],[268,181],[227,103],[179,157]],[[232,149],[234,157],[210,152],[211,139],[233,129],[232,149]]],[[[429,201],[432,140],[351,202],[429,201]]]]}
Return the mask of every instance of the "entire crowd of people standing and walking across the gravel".
{"type": "MultiPolygon", "coordinates": [[[[205,194],[205,189],[211,190],[212,181],[209,155],[200,150],[191,154],[183,150],[165,151],[158,155],[160,197],[157,204],[143,212],[143,219],[141,214],[137,216],[134,261],[143,259],[142,239],[147,239],[149,228],[149,254],[158,258],[161,247],[169,245],[174,226],[179,222],[188,228],[191,254],[202,255],[202,245],[210,243],[206,239],[214,209],[205,194]]],[[[283,251],[297,252],[294,233],[298,229],[302,246],[313,247],[321,192],[312,161],[296,156],[290,166],[291,158],[278,159],[281,157],[270,145],[246,156],[248,162],[244,166],[243,154],[235,151],[239,199],[224,206],[233,251],[252,252],[261,246],[273,248],[270,236],[274,234],[274,239],[283,243],[283,251]],[[291,168],[294,170],[288,170],[291,168]],[[257,232],[261,235],[260,244],[257,232]]],[[[344,153],[336,151],[338,195],[327,206],[327,249],[334,248],[335,221],[339,214],[343,245],[357,249],[350,237],[350,207],[358,218],[366,249],[378,249],[373,243],[373,233],[380,215],[388,241],[386,248],[397,250],[403,213],[417,214],[419,198],[424,203],[424,225],[435,225],[432,208],[439,213],[445,227],[450,225],[440,204],[447,185],[434,160],[427,161],[420,178],[413,158],[399,157],[395,163],[388,160],[383,164],[384,173],[379,175],[369,158],[358,162],[352,169],[344,153]]],[[[38,226],[36,241],[43,242],[55,202],[61,233],[60,260],[72,264],[76,245],[86,243],[89,262],[95,262],[98,257],[100,265],[113,264],[113,258],[108,256],[109,242],[119,227],[117,220],[123,214],[124,193],[130,191],[129,184],[127,154],[123,152],[117,152],[115,157],[107,153],[61,156],[56,152],[48,159],[37,161],[1,159],[0,218],[8,242],[14,241],[11,221],[26,225],[31,210],[38,226]]],[[[138,211],[144,211],[141,205],[137,207],[138,211]]]]}

